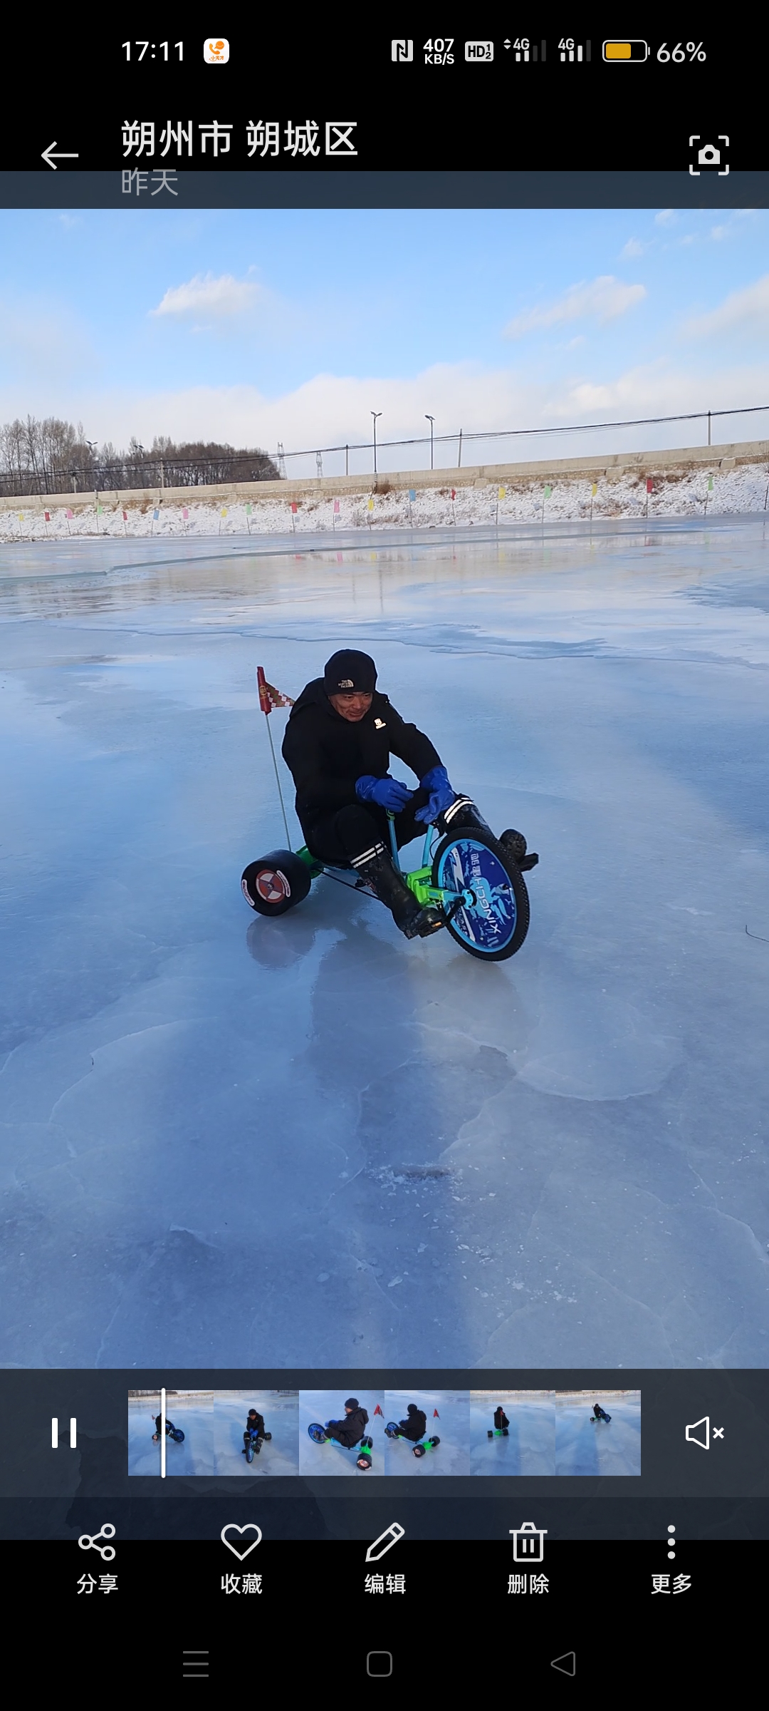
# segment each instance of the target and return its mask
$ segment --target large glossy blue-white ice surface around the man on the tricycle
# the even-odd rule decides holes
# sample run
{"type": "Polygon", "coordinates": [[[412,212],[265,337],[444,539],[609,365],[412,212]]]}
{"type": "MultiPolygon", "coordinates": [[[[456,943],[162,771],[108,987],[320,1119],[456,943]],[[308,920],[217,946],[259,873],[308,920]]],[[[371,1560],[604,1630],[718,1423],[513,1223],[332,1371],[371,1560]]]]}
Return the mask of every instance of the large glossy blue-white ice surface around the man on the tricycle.
{"type": "Polygon", "coordinates": [[[2,1364],[764,1365],[764,522],[318,546],[3,549],[2,1364]],[[540,852],[509,962],[248,912],[340,643],[540,852]]]}

